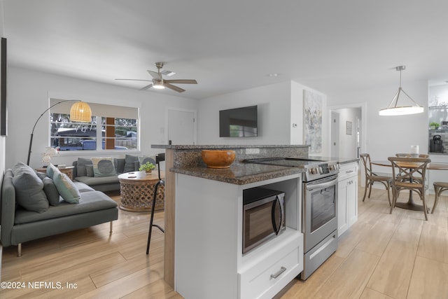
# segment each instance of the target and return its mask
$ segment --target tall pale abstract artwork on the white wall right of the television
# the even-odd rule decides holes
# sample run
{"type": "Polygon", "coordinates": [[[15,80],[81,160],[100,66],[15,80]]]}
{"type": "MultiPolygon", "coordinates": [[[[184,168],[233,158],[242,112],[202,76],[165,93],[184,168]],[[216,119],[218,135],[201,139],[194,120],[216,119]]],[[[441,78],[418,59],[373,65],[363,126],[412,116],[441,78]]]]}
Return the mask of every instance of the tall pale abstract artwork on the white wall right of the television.
{"type": "Polygon", "coordinates": [[[322,152],[322,96],[303,90],[304,144],[309,145],[309,153],[322,152]]]}

